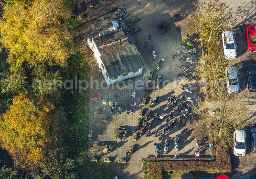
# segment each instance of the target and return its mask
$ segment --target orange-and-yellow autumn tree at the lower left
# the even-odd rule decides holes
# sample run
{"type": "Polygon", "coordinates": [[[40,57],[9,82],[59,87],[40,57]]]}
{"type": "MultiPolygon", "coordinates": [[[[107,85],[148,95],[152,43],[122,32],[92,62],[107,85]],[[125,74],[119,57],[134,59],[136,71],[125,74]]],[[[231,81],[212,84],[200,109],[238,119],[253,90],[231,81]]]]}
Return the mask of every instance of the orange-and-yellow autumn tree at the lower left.
{"type": "Polygon", "coordinates": [[[0,120],[1,147],[14,162],[33,165],[44,158],[50,143],[57,139],[58,118],[48,99],[33,99],[23,93],[0,120]]]}

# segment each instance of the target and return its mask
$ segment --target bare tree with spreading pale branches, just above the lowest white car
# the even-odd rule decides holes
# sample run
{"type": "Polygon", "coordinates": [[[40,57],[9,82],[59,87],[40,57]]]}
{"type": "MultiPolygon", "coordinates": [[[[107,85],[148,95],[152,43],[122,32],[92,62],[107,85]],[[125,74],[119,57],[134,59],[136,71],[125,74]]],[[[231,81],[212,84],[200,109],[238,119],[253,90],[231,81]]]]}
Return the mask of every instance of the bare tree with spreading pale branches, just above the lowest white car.
{"type": "Polygon", "coordinates": [[[192,112],[197,114],[198,120],[193,127],[197,133],[208,134],[211,131],[214,142],[230,147],[233,145],[233,132],[250,125],[250,112],[245,99],[231,96],[224,86],[215,89],[208,101],[195,100],[197,104],[192,106],[192,112]]]}

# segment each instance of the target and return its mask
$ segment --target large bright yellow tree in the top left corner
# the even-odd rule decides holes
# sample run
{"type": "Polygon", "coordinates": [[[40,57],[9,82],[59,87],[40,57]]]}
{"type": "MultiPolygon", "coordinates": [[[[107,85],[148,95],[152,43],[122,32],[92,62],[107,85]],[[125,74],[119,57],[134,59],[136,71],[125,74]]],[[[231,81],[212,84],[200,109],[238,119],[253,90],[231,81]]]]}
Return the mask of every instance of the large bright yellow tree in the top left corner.
{"type": "Polygon", "coordinates": [[[0,20],[1,43],[10,53],[12,68],[22,64],[67,64],[72,35],[63,24],[71,10],[64,0],[19,1],[7,4],[0,20]]]}

